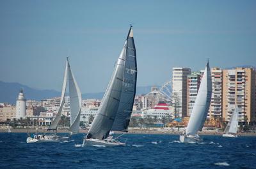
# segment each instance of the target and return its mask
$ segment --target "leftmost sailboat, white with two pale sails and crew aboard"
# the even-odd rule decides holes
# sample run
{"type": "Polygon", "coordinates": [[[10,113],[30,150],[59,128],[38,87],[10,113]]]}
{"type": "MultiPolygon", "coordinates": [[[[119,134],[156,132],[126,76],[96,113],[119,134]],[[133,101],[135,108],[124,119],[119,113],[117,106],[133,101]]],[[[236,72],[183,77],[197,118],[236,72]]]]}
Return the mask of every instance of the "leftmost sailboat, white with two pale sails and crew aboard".
{"type": "MultiPolygon", "coordinates": [[[[35,135],[33,138],[28,137],[27,143],[58,142],[58,141],[60,141],[60,136],[57,136],[56,133],[57,133],[58,123],[60,122],[60,119],[61,119],[62,108],[63,108],[64,102],[65,102],[67,80],[68,80],[69,97],[70,97],[70,127],[68,128],[68,130],[70,131],[70,136],[73,133],[79,132],[82,97],[81,97],[81,92],[77,85],[76,79],[74,78],[74,75],[70,68],[70,64],[68,62],[68,57],[67,57],[62,91],[61,91],[60,107],[59,107],[58,113],[56,114],[56,117],[54,118],[54,120],[52,121],[52,123],[48,129],[48,130],[54,130],[55,135],[35,135]]],[[[68,137],[62,137],[62,138],[68,138],[68,137]]]]}

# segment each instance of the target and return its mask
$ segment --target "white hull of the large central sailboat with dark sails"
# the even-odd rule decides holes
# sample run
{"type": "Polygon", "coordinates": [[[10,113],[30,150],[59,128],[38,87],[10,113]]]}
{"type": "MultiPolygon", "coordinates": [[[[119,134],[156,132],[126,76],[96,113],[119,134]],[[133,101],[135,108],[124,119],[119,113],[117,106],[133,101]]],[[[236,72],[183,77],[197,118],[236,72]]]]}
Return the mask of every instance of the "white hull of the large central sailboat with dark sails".
{"type": "Polygon", "coordinates": [[[86,145],[104,145],[106,147],[115,147],[119,145],[125,145],[125,143],[121,143],[109,138],[106,138],[104,140],[90,138],[90,139],[84,139],[83,147],[86,145]]]}

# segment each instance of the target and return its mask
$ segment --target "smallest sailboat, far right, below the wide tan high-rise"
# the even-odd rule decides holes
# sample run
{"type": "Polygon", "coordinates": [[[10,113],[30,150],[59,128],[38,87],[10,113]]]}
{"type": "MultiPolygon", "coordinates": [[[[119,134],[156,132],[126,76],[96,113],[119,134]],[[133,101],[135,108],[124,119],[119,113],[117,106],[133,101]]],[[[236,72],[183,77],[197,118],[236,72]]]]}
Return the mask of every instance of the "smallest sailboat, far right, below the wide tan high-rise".
{"type": "Polygon", "coordinates": [[[237,133],[237,126],[238,126],[238,115],[239,115],[239,112],[236,106],[222,136],[237,137],[236,133],[237,133]]]}

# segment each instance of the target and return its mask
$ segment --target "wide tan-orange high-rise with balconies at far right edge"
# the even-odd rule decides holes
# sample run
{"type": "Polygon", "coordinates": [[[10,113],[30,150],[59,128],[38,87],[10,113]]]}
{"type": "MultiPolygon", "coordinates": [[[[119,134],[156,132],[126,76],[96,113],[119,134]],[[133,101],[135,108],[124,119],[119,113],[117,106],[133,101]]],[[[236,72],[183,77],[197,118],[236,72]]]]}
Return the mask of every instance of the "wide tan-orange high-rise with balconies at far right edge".
{"type": "Polygon", "coordinates": [[[255,70],[236,68],[223,70],[223,117],[230,120],[230,115],[237,105],[239,121],[256,121],[255,70]]]}

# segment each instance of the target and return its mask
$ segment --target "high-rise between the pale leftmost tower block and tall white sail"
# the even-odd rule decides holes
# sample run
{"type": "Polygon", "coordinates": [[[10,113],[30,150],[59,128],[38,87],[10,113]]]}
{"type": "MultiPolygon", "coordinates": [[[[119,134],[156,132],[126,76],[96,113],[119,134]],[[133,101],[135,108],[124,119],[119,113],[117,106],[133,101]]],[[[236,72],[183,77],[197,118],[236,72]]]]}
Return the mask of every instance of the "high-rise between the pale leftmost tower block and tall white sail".
{"type": "Polygon", "coordinates": [[[187,92],[187,116],[190,116],[195,105],[196,96],[200,87],[200,73],[192,72],[188,75],[188,92],[187,92]]]}

